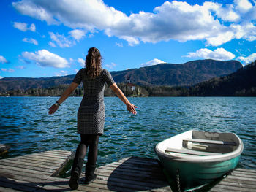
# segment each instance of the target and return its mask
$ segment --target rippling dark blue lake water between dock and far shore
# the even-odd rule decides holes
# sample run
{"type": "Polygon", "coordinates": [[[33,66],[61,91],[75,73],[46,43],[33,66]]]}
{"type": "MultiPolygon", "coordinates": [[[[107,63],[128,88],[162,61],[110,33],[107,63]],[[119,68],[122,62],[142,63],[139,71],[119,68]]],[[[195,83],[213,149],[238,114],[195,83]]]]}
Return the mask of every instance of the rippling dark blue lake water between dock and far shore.
{"type": "MultiPolygon", "coordinates": [[[[56,97],[0,97],[0,143],[11,145],[1,158],[45,150],[75,150],[76,115],[81,97],[69,97],[54,115],[56,97]]],[[[175,134],[197,129],[231,131],[244,142],[238,167],[256,169],[256,98],[129,98],[138,106],[131,115],[118,98],[105,98],[105,132],[99,139],[97,165],[131,155],[157,158],[154,145],[175,134]]]]}

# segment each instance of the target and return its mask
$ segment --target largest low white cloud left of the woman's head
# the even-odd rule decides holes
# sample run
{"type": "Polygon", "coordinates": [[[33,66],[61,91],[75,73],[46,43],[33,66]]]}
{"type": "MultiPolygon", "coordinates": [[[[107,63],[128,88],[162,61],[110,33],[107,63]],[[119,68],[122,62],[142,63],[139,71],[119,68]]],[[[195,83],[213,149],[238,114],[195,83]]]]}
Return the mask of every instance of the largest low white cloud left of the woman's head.
{"type": "Polygon", "coordinates": [[[23,52],[23,58],[36,62],[39,66],[51,66],[55,68],[69,67],[66,59],[50,53],[48,50],[38,50],[35,53],[23,52]]]}

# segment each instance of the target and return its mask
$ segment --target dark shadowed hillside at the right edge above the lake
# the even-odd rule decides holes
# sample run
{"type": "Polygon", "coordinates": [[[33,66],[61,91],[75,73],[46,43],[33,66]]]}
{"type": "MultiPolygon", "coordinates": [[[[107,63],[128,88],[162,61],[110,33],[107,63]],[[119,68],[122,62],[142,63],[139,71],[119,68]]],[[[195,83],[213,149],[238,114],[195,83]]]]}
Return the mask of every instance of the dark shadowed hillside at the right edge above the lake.
{"type": "Polygon", "coordinates": [[[192,86],[189,96],[256,96],[256,61],[225,77],[192,86]]]}

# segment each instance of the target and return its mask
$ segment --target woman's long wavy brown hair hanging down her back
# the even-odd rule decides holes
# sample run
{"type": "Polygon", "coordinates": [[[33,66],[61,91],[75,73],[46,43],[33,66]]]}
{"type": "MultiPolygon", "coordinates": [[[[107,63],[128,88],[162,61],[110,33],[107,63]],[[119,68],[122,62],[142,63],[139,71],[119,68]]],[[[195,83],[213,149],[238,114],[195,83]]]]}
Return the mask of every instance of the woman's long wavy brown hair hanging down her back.
{"type": "Polygon", "coordinates": [[[97,48],[91,47],[86,55],[86,74],[91,78],[99,76],[102,71],[102,55],[97,48]]]}

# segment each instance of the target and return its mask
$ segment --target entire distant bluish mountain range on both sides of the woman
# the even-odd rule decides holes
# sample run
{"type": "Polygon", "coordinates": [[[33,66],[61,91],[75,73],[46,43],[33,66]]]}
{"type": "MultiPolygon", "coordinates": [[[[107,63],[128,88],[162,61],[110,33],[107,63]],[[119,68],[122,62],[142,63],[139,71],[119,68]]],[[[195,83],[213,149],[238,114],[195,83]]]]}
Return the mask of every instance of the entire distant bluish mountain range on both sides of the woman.
{"type": "MultiPolygon", "coordinates": [[[[211,59],[189,61],[185,64],[158,64],[110,72],[116,82],[130,82],[138,85],[195,85],[198,82],[221,77],[236,72],[242,67],[238,61],[214,61],[211,59]]],[[[31,88],[50,88],[67,85],[75,74],[64,77],[6,77],[0,80],[0,92],[10,90],[28,90],[31,88]]]]}

